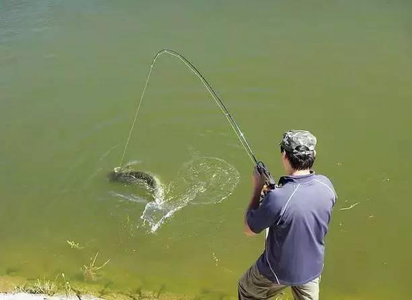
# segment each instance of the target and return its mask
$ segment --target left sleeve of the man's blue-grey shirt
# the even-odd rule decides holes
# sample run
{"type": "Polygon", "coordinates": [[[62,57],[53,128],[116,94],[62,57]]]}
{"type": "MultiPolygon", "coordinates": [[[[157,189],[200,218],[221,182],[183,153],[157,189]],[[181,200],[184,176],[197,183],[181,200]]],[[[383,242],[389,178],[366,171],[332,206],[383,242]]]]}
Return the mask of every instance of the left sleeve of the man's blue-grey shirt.
{"type": "Polygon", "coordinates": [[[274,193],[269,192],[257,209],[249,209],[247,212],[247,224],[251,231],[260,233],[276,222],[280,211],[281,208],[278,208],[276,205],[274,193]]]}

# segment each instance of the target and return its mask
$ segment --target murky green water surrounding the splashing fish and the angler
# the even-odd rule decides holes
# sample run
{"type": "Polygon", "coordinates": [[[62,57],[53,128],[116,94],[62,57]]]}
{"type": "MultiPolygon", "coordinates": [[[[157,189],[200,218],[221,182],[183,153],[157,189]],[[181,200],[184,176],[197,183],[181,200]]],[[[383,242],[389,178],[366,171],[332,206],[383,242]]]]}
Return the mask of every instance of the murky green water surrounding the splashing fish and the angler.
{"type": "Polygon", "coordinates": [[[82,281],[99,251],[98,264],[111,259],[102,286],[236,296],[263,246],[242,235],[252,165],[175,58],[159,58],[126,161],[168,184],[187,162],[218,158],[240,175],[233,193],[189,203],[150,233],[146,204],[106,178],[150,60],[170,47],[209,78],[274,175],[284,131],[317,136],[315,169],[339,194],[322,299],[405,299],[411,14],[401,0],[0,0],[0,275],[82,281]]]}

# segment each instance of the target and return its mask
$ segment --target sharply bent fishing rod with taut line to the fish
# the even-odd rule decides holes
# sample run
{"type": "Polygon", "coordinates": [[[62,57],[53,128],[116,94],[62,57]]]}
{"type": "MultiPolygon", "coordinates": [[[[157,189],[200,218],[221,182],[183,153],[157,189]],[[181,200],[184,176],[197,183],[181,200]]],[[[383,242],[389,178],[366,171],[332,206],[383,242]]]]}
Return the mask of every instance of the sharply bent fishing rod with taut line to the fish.
{"type": "Polygon", "coordinates": [[[161,54],[169,54],[170,56],[179,58],[179,60],[181,62],[183,62],[186,65],[186,67],[188,69],[190,69],[190,71],[192,71],[192,73],[195,74],[201,80],[203,85],[205,85],[205,87],[207,89],[207,92],[209,92],[209,94],[211,95],[211,98],[214,99],[214,101],[216,102],[218,107],[221,109],[223,114],[225,114],[225,117],[229,121],[229,124],[231,125],[233,131],[235,131],[236,136],[240,140],[240,144],[242,144],[242,147],[247,152],[247,155],[252,160],[253,164],[255,164],[256,169],[258,170],[258,172],[261,175],[264,175],[264,178],[266,180],[266,187],[268,189],[275,188],[276,183],[275,183],[275,180],[273,179],[271,173],[269,173],[268,169],[266,169],[266,166],[264,165],[264,163],[262,161],[258,161],[256,159],[256,156],[253,153],[253,150],[251,149],[251,146],[250,146],[247,138],[244,136],[244,134],[240,130],[240,127],[236,123],[236,120],[229,113],[229,110],[227,109],[225,103],[223,103],[222,99],[218,96],[218,94],[215,92],[213,87],[211,87],[211,85],[209,84],[209,82],[207,82],[206,78],[201,74],[201,72],[189,60],[187,60],[187,58],[185,58],[185,56],[181,55],[179,52],[176,52],[176,51],[170,50],[170,49],[160,50],[159,52],[157,52],[155,57],[152,59],[152,64],[150,65],[150,69],[149,69],[149,72],[148,72],[148,77],[146,78],[146,83],[144,85],[143,92],[141,93],[141,96],[140,96],[139,105],[137,105],[135,118],[133,119],[132,126],[130,127],[128,138],[126,140],[126,146],[124,147],[124,151],[123,151],[123,154],[122,154],[122,159],[120,160],[119,165],[122,166],[122,163],[123,163],[123,160],[124,160],[124,155],[125,155],[126,149],[128,147],[128,142],[130,141],[130,136],[132,135],[133,127],[135,127],[135,122],[137,120],[137,115],[139,114],[139,111],[140,111],[140,108],[141,108],[141,103],[143,102],[144,95],[146,94],[146,88],[148,87],[148,82],[149,82],[149,79],[150,79],[150,75],[152,74],[153,67],[155,67],[155,63],[157,61],[157,58],[159,58],[159,56],[161,56],[161,54]]]}

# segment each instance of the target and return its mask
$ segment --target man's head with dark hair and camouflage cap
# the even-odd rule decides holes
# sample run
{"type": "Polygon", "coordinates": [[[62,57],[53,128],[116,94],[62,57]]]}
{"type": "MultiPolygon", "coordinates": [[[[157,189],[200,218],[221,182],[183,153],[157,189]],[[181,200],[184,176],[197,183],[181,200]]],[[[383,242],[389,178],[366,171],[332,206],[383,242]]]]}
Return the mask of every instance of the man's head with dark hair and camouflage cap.
{"type": "Polygon", "coordinates": [[[316,138],[309,131],[286,131],[279,143],[285,171],[293,173],[311,169],[316,156],[316,142],[316,138]]]}

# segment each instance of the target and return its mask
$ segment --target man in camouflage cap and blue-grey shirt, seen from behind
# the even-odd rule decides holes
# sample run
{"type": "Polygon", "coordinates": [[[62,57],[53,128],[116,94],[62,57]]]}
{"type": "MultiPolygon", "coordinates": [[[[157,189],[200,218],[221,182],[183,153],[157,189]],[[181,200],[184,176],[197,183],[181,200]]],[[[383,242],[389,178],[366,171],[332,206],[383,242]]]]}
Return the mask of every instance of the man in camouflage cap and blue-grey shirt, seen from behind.
{"type": "Polygon", "coordinates": [[[336,202],[328,178],[311,171],[317,140],[309,131],[284,133],[280,142],[286,175],[260,203],[264,177],[255,170],[244,232],[268,228],[264,253],[240,278],[238,297],[270,299],[290,286],[295,300],[319,299],[324,237],[336,202]]]}

